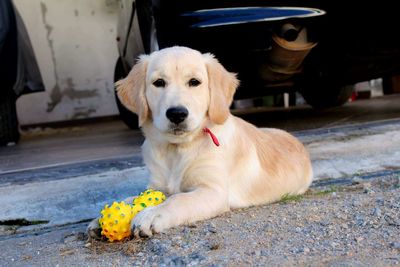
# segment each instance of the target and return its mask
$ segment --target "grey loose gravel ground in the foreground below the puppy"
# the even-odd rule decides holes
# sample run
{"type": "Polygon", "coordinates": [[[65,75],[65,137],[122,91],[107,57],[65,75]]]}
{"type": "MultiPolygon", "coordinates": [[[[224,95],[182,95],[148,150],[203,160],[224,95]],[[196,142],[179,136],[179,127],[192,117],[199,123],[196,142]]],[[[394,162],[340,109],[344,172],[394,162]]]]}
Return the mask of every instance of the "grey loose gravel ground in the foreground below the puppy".
{"type": "Polygon", "coordinates": [[[148,239],[88,241],[85,226],[0,239],[0,266],[396,266],[400,176],[313,187],[148,239]]]}

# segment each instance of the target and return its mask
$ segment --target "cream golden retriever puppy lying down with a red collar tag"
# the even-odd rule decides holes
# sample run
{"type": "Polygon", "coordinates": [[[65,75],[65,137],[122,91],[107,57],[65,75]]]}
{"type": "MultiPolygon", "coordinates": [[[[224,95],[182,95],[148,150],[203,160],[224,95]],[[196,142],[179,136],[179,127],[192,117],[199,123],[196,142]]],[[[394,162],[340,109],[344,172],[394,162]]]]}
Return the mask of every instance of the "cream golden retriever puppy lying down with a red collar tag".
{"type": "MultiPolygon", "coordinates": [[[[238,84],[213,55],[186,47],[140,57],[117,82],[146,138],[148,187],[169,196],[133,219],[135,236],[307,190],[312,168],[304,146],[285,131],[262,131],[230,113],[238,84]]],[[[96,221],[89,233],[95,228],[96,221]]]]}

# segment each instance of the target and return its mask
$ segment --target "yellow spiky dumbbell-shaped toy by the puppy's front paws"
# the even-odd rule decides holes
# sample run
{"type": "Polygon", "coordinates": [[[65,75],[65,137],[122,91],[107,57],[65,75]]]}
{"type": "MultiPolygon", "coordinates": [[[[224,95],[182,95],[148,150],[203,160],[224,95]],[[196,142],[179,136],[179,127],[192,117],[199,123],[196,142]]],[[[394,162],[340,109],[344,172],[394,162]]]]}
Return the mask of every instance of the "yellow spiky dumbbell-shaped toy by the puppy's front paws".
{"type": "Polygon", "coordinates": [[[99,225],[101,234],[108,241],[121,241],[131,235],[131,221],[140,211],[146,207],[156,206],[165,200],[161,191],[148,189],[135,198],[132,204],[124,201],[114,202],[111,206],[105,205],[101,211],[99,225]]]}

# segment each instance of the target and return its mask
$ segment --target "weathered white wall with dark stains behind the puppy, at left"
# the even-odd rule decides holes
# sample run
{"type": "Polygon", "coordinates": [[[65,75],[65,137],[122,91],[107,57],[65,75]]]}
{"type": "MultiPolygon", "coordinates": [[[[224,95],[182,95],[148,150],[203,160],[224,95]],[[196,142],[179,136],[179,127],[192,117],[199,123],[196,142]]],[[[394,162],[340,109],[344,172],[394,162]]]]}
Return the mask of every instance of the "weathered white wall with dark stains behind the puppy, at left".
{"type": "Polygon", "coordinates": [[[17,102],[21,125],[117,114],[118,0],[14,0],[46,92],[17,102]]]}

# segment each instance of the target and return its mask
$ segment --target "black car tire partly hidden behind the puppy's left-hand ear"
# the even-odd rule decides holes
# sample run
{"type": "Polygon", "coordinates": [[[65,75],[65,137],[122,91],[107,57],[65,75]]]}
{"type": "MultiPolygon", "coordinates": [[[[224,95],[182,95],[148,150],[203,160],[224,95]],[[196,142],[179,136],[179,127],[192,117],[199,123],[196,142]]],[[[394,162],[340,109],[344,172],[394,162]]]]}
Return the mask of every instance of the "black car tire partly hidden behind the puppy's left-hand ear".
{"type": "MultiPolygon", "coordinates": [[[[124,70],[124,66],[122,64],[122,60],[119,58],[117,63],[115,64],[115,71],[114,71],[114,81],[118,81],[122,78],[125,78],[127,73],[124,70]]],[[[138,116],[127,109],[119,100],[119,97],[117,95],[117,91],[114,90],[115,94],[115,102],[117,103],[118,111],[119,111],[119,117],[120,119],[126,124],[131,129],[138,129],[139,128],[139,122],[138,122],[138,116]]]]}

